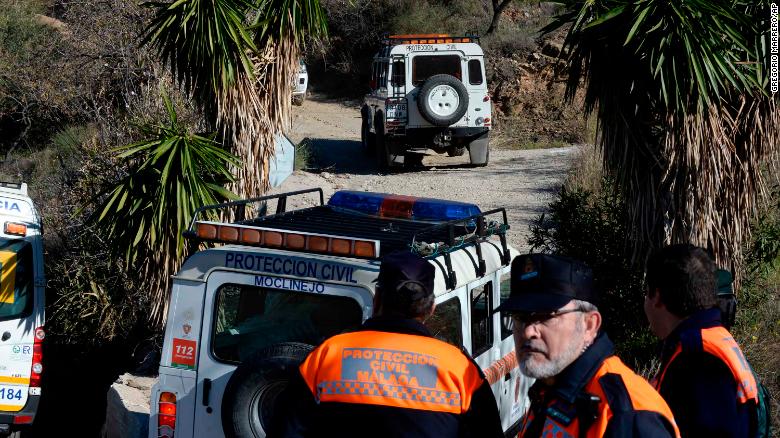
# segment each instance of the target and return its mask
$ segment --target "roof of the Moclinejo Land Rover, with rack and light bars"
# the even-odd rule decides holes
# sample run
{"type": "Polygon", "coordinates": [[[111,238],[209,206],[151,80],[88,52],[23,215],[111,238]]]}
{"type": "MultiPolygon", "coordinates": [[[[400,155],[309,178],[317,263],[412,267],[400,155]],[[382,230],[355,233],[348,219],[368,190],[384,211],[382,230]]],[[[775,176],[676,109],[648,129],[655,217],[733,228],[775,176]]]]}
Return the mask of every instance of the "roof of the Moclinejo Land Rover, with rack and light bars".
{"type": "Polygon", "coordinates": [[[438,296],[472,282],[486,272],[495,272],[517,255],[517,251],[506,243],[508,226],[503,209],[479,212],[473,204],[352,191],[337,192],[328,204],[323,201],[322,191],[314,189],[200,209],[187,237],[227,244],[193,254],[176,278],[206,281],[212,270],[227,269],[360,284],[373,290],[381,257],[414,247],[422,255],[427,254],[425,258],[436,267],[434,290],[438,296]],[[198,220],[198,214],[209,209],[317,191],[321,205],[315,207],[235,223],[198,220]],[[353,204],[355,210],[347,208],[353,204]],[[420,209],[413,210],[414,205],[420,209]],[[395,208],[397,211],[383,211],[382,214],[389,216],[382,217],[368,214],[367,211],[372,208],[395,208]],[[397,216],[398,212],[405,211],[410,216],[417,211],[418,217],[444,214],[460,218],[436,223],[431,222],[430,217],[429,220],[415,220],[397,216]],[[473,214],[475,212],[476,215],[473,214]],[[487,220],[487,216],[501,213],[503,224],[487,220]],[[478,222],[482,222],[479,227],[478,222]],[[276,243],[269,243],[271,239],[277,239],[276,243]],[[240,244],[242,240],[248,244],[240,244]],[[315,248],[316,243],[321,242],[333,249],[337,241],[352,248],[352,253],[333,254],[315,248]],[[332,274],[338,272],[349,274],[332,274]]]}

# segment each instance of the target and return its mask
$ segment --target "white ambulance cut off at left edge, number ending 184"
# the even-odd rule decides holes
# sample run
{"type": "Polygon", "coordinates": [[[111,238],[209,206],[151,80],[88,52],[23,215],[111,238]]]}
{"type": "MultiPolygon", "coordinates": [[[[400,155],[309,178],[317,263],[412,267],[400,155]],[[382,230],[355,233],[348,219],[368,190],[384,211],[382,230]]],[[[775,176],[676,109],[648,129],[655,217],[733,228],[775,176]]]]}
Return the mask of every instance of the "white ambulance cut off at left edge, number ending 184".
{"type": "Polygon", "coordinates": [[[27,184],[0,182],[0,436],[21,436],[41,396],[41,232],[27,184]]]}

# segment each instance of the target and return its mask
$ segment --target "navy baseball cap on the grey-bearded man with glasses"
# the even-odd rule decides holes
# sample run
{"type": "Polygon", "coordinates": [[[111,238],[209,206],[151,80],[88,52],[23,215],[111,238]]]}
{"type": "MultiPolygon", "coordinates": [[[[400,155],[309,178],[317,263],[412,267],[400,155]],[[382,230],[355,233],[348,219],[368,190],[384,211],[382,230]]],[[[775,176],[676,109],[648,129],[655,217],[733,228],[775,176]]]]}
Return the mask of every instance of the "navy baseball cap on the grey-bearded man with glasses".
{"type": "Polygon", "coordinates": [[[496,311],[552,312],[573,299],[598,304],[590,268],[568,257],[524,254],[512,261],[509,298],[496,311]]]}

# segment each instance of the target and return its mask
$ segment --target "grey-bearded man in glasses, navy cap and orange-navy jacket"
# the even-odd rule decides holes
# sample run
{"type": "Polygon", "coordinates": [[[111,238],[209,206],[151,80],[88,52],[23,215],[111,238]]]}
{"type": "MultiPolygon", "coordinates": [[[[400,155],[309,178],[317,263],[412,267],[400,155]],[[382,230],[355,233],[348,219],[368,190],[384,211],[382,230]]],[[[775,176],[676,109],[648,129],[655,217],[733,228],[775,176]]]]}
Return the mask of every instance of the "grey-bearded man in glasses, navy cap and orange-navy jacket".
{"type": "Polygon", "coordinates": [[[547,254],[512,262],[511,315],[520,371],[536,380],[521,437],[677,437],[666,402],[614,354],[589,268],[547,254]]]}

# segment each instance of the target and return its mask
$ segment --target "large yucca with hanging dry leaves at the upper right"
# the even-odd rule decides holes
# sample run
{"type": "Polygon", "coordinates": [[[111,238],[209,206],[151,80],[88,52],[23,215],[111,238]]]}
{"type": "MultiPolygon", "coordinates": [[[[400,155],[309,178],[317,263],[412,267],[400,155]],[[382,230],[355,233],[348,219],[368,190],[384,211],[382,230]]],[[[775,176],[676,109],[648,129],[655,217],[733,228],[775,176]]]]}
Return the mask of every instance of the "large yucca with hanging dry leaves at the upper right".
{"type": "Polygon", "coordinates": [[[584,89],[640,261],[666,243],[738,268],[780,142],[767,93],[766,1],[564,1],[567,97],[584,89]]]}

